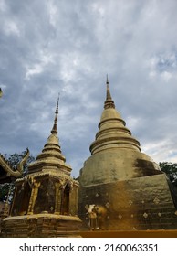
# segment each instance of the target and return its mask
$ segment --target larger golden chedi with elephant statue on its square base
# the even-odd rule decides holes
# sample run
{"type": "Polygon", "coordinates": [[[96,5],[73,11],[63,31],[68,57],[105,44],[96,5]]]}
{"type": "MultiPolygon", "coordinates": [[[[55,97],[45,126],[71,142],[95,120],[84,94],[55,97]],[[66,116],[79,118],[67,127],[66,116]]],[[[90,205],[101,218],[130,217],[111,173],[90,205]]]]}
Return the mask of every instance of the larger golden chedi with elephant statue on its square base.
{"type": "Polygon", "coordinates": [[[78,215],[86,229],[177,228],[177,193],[159,165],[141,153],[140,143],[115,109],[108,79],[90,152],[80,170],[78,194],[78,215]],[[90,212],[97,214],[94,227],[90,212]]]}

